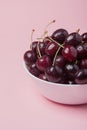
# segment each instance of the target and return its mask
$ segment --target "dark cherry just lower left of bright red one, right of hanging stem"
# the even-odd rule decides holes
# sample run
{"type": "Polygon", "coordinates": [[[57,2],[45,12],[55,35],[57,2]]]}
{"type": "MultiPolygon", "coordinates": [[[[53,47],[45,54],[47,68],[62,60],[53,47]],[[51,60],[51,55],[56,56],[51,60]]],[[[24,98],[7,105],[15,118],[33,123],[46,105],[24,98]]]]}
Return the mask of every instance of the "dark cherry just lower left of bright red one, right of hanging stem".
{"type": "Polygon", "coordinates": [[[59,67],[62,68],[64,67],[65,63],[66,63],[65,58],[62,55],[57,55],[54,65],[58,65],[59,67]]]}

